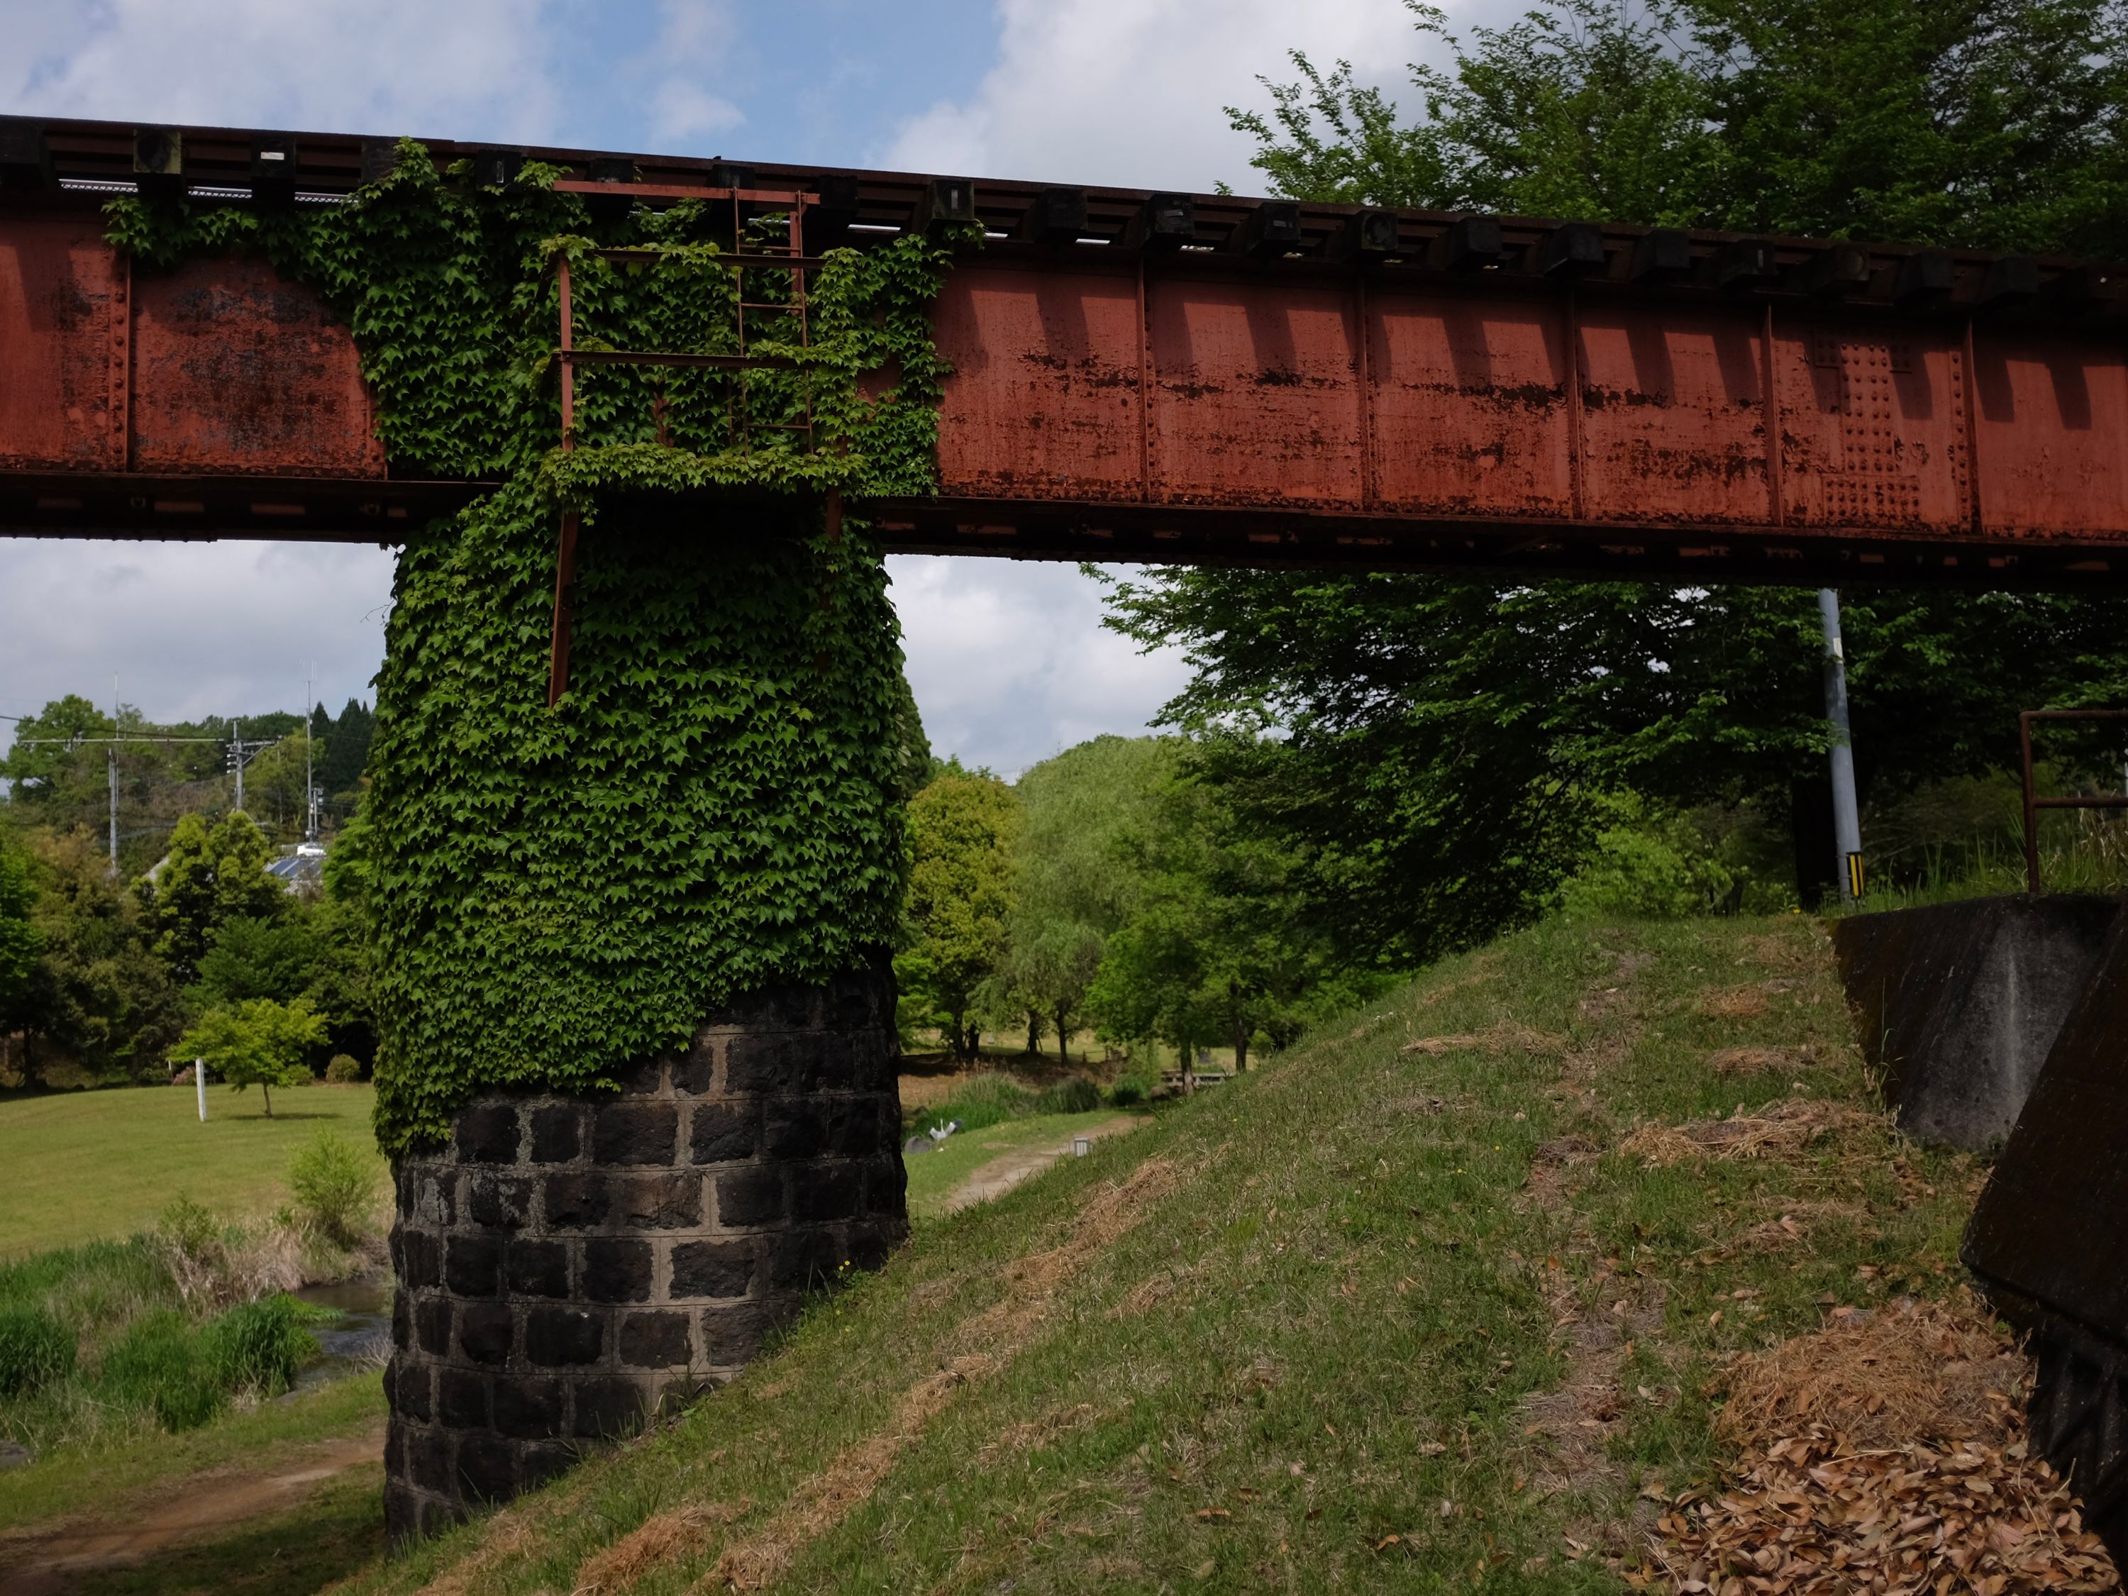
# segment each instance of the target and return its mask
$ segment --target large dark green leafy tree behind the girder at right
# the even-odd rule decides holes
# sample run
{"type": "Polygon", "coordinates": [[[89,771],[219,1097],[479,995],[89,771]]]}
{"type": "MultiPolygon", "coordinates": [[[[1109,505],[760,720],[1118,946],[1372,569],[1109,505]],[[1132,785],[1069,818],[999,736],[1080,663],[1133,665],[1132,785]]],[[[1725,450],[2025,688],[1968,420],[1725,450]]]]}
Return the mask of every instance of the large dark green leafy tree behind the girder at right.
{"type": "MultiPolygon", "coordinates": [[[[1553,0],[1470,43],[1404,123],[1351,68],[1236,115],[1302,198],[1639,223],[2113,247],[2117,6],[2085,0],[1553,0]],[[2077,126],[2066,130],[2062,119],[2077,126]],[[1779,177],[1766,177],[1779,172],[1779,177]]],[[[1845,592],[1864,789],[2007,762],[2015,711],[2113,698],[2128,604],[1845,592]]],[[[1824,789],[1815,602],[1783,587],[1173,570],[1111,624],[1183,645],[1170,717],[1298,855],[1356,962],[1413,962],[1536,913],[1605,794],[1758,802],[1824,789]]]]}

